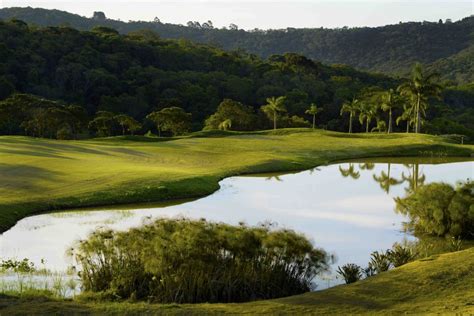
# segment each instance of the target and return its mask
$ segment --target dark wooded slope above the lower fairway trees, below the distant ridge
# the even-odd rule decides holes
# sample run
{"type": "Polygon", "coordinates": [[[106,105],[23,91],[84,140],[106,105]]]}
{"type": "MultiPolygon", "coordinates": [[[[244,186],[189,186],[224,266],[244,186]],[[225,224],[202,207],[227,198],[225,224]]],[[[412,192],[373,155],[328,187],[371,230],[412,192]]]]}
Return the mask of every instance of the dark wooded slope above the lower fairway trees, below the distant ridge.
{"type": "Polygon", "coordinates": [[[263,61],[188,41],[161,40],[151,32],[120,35],[98,27],[30,28],[0,22],[1,97],[13,91],[63,100],[97,111],[143,119],[154,109],[179,106],[195,127],[225,98],[258,108],[271,96],[287,96],[289,114],[311,102],[339,117],[339,105],[372,85],[394,80],[348,67],[329,67],[287,54],[263,61]]]}

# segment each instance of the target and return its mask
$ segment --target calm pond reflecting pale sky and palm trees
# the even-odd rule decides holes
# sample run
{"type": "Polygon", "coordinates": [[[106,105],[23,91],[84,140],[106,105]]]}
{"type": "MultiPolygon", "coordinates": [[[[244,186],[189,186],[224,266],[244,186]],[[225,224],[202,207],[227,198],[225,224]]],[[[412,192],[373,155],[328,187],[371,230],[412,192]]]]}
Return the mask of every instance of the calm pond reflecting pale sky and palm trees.
{"type": "MultiPolygon", "coordinates": [[[[0,258],[29,258],[65,271],[65,253],[98,227],[125,230],[163,216],[205,218],[230,224],[277,223],[308,236],[337,258],[338,265],[366,266],[370,253],[413,239],[402,231],[405,218],[394,198],[429,182],[455,184],[474,176],[474,162],[452,158],[349,161],[292,174],[224,179],[207,197],[175,205],[67,211],[31,216],[0,235],[0,258]]],[[[338,283],[327,278],[318,288],[338,283]]]]}

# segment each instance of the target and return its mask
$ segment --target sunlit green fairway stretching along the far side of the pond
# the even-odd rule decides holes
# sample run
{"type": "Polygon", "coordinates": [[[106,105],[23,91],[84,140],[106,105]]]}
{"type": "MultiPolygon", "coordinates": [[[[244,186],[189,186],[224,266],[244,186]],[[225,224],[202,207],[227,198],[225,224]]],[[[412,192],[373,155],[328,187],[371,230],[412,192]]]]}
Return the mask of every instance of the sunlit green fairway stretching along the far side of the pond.
{"type": "Polygon", "coordinates": [[[370,156],[471,156],[474,146],[414,134],[343,134],[307,129],[55,141],[0,137],[0,232],[32,213],[79,206],[196,197],[224,177],[301,170],[370,156]]]}

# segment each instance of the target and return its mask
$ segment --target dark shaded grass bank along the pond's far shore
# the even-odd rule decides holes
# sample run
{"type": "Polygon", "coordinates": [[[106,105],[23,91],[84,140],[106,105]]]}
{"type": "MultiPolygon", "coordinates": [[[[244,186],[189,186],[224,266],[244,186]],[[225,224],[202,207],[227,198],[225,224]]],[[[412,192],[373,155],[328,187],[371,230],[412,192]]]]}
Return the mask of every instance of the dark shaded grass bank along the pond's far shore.
{"type": "MultiPolygon", "coordinates": [[[[347,135],[347,137],[351,137],[351,135],[347,135]]],[[[357,135],[356,137],[360,138],[361,135],[357,135]]],[[[422,137],[424,136],[422,135],[422,137]]],[[[232,136],[226,136],[221,139],[227,140],[231,138],[232,136]]],[[[208,138],[202,139],[206,140],[208,138]]],[[[172,143],[173,141],[170,142],[172,143]]],[[[134,143],[136,144],[137,142],[134,143]]],[[[155,187],[149,187],[134,181],[123,183],[119,187],[111,187],[108,190],[92,192],[84,195],[56,198],[50,201],[37,200],[25,203],[0,204],[0,213],[10,211],[10,213],[14,214],[14,216],[9,219],[0,218],[0,234],[8,231],[22,218],[42,213],[86,209],[91,207],[120,206],[137,203],[168,203],[179,200],[198,199],[216,192],[220,188],[220,181],[233,176],[250,176],[252,174],[272,172],[299,172],[322,165],[354,159],[387,157],[433,157],[438,159],[444,157],[458,157],[469,160],[470,158],[472,159],[472,154],[474,153],[473,146],[460,146],[444,141],[439,141],[434,144],[393,145],[389,148],[380,148],[373,145],[369,148],[364,148],[364,150],[364,153],[336,150],[331,152],[328,157],[324,157],[325,152],[323,151],[317,151],[316,153],[319,155],[308,156],[310,153],[303,150],[299,154],[306,155],[304,159],[300,159],[300,157],[294,157],[296,159],[291,159],[293,157],[286,157],[286,159],[261,159],[263,163],[249,165],[242,164],[240,168],[223,173],[219,173],[218,170],[216,170],[214,174],[190,175],[190,177],[177,181],[162,181],[160,186],[155,187]],[[145,186],[145,188],[143,186],[145,186]],[[133,193],[135,194],[130,194],[130,192],[124,194],[124,190],[128,190],[129,188],[133,188],[133,193]]],[[[289,153],[291,154],[291,152],[289,153]]]]}

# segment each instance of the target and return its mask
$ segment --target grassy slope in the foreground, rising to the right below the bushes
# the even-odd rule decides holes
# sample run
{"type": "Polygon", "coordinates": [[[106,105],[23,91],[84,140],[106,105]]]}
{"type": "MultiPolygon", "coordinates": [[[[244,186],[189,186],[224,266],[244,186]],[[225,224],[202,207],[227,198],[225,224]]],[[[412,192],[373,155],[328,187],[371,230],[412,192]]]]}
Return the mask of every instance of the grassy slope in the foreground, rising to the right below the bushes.
{"type": "Polygon", "coordinates": [[[474,313],[474,248],[416,261],[321,292],[245,304],[93,303],[0,296],[0,315],[18,314],[457,314],[474,313]],[[3,310],[2,310],[3,308],[3,310]]]}

